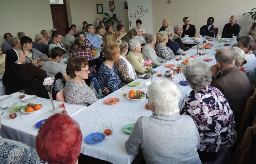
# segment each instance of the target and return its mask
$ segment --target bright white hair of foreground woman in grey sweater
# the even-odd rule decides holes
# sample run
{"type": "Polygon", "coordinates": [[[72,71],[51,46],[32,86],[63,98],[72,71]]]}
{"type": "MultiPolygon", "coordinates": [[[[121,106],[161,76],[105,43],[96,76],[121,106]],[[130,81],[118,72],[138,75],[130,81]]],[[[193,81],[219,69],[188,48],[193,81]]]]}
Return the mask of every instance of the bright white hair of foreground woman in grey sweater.
{"type": "Polygon", "coordinates": [[[147,91],[148,104],[155,105],[154,114],[157,116],[172,116],[180,113],[179,100],[181,93],[176,84],[170,80],[154,81],[147,91]]]}

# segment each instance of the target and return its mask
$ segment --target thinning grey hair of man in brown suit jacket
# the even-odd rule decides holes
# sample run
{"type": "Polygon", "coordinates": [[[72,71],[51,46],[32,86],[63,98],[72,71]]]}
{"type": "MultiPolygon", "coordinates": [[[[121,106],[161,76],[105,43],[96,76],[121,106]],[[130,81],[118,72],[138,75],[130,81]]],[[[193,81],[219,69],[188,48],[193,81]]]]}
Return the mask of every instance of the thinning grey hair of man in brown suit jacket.
{"type": "Polygon", "coordinates": [[[220,48],[215,54],[215,59],[222,65],[234,64],[234,52],[229,48],[220,48]]]}

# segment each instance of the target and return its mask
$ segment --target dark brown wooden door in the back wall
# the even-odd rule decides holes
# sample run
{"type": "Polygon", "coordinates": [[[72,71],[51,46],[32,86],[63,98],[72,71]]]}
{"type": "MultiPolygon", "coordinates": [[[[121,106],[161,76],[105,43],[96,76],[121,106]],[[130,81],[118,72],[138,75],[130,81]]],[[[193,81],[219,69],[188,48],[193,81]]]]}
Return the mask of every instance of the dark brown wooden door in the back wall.
{"type": "Polygon", "coordinates": [[[53,27],[59,30],[62,36],[66,35],[66,28],[69,27],[66,4],[51,4],[53,27]]]}

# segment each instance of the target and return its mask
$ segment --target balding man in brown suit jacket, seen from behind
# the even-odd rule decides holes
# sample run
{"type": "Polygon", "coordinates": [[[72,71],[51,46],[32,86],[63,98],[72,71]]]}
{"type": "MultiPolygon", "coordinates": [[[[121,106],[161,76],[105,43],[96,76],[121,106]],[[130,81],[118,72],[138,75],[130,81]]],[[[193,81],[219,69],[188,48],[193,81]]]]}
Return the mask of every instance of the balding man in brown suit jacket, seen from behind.
{"type": "Polygon", "coordinates": [[[236,58],[232,49],[218,50],[215,59],[217,64],[210,68],[213,76],[212,86],[218,88],[228,100],[238,128],[247,98],[252,94],[252,87],[246,74],[235,66],[236,58]],[[221,76],[216,79],[219,71],[221,76]]]}

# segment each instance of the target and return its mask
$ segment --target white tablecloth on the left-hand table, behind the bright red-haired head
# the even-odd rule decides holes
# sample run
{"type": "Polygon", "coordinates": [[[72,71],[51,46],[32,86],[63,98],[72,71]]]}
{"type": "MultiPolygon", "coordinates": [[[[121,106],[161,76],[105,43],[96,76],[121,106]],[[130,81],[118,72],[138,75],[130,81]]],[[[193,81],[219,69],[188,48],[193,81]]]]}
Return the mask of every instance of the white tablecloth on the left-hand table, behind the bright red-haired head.
{"type": "MultiPolygon", "coordinates": [[[[29,96],[29,95],[26,95],[29,96]]],[[[18,99],[17,93],[13,93],[12,97],[5,101],[0,101],[0,106],[7,102],[17,102],[17,105],[26,105],[28,102],[23,102],[18,99]]],[[[2,127],[0,129],[0,135],[3,138],[9,138],[15,141],[24,142],[25,144],[35,148],[35,137],[37,136],[38,129],[35,127],[35,124],[43,119],[47,119],[49,115],[49,110],[52,109],[51,100],[37,97],[30,102],[34,104],[43,104],[43,108],[39,111],[31,114],[26,113],[17,113],[17,117],[14,119],[9,119],[9,114],[6,109],[3,115],[1,115],[2,127]]],[[[55,106],[62,104],[63,102],[54,101],[55,106]]],[[[76,113],[81,112],[86,106],[74,105],[64,102],[68,114],[72,117],[76,113]]],[[[4,109],[0,109],[0,114],[4,109]]]]}

